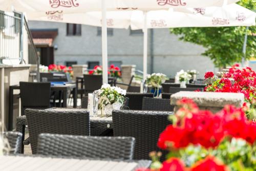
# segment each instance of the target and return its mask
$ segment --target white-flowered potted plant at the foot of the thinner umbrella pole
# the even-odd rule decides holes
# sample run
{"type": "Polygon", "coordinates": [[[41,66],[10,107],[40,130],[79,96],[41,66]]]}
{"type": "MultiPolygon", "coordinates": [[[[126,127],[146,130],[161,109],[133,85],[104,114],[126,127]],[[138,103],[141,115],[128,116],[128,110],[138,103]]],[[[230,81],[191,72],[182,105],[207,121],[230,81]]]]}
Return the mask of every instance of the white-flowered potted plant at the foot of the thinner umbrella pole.
{"type": "Polygon", "coordinates": [[[154,97],[158,97],[161,94],[161,84],[165,82],[167,76],[162,73],[153,73],[147,75],[146,82],[150,86],[151,93],[154,93],[154,97]]]}

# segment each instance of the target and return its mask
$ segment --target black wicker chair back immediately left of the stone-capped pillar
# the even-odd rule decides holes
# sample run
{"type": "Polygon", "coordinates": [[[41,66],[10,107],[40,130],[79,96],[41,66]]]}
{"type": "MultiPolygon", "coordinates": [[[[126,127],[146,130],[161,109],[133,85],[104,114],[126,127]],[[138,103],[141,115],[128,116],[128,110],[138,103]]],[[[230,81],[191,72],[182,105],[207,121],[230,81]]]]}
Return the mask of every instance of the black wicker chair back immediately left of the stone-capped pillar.
{"type": "Polygon", "coordinates": [[[144,111],[174,111],[170,99],[143,97],[142,110],[144,111]]]}

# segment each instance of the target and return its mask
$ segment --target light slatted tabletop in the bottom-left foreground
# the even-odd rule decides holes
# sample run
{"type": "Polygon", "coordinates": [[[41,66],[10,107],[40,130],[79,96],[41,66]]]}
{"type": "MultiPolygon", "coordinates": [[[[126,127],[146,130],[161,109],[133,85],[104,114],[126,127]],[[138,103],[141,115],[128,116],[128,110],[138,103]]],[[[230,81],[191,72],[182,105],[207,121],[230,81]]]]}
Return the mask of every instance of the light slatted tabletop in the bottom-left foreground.
{"type": "Polygon", "coordinates": [[[121,161],[108,159],[58,158],[49,156],[0,156],[0,170],[111,170],[131,171],[148,167],[148,160],[121,161]]]}

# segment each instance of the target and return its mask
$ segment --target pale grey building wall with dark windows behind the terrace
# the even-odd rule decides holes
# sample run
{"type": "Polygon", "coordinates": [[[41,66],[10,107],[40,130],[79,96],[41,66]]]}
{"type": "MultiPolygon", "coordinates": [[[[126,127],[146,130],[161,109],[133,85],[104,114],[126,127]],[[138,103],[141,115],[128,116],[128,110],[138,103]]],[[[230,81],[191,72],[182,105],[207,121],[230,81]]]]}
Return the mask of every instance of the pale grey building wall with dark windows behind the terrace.
{"type": "MultiPolygon", "coordinates": [[[[29,28],[56,30],[51,42],[54,62],[61,65],[101,65],[101,29],[93,26],[55,22],[29,21],[29,28]]],[[[168,29],[148,30],[148,73],[161,72],[174,77],[180,70],[196,69],[202,78],[206,71],[215,71],[211,60],[202,56],[204,48],[178,39],[168,29]]],[[[141,30],[109,29],[108,61],[115,65],[136,65],[143,70],[143,33],[141,30]]]]}

